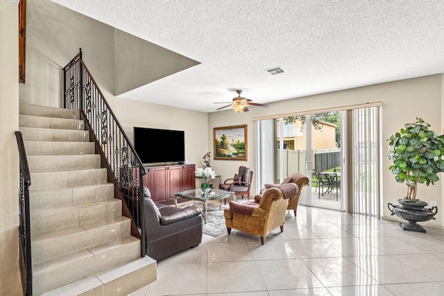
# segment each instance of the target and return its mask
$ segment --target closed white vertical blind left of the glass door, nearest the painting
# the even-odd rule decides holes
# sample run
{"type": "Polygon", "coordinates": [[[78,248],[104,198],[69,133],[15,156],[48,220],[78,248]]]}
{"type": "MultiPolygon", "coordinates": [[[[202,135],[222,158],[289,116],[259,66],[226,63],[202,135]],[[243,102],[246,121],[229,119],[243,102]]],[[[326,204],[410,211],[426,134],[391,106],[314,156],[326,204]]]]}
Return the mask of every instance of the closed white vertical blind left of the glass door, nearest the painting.
{"type": "Polygon", "coordinates": [[[275,121],[264,119],[255,121],[255,149],[256,149],[256,192],[259,192],[266,183],[275,180],[275,121]]]}

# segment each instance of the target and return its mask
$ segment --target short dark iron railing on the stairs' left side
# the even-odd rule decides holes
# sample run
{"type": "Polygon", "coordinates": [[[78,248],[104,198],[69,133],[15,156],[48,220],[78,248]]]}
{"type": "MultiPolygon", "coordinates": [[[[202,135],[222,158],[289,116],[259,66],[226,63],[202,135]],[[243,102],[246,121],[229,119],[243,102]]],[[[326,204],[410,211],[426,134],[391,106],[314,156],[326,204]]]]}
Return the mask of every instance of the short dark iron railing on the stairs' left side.
{"type": "Polygon", "coordinates": [[[25,146],[22,132],[15,132],[20,162],[19,187],[19,265],[22,276],[23,295],[33,295],[33,270],[31,260],[31,214],[29,208],[29,186],[31,186],[31,173],[29,173],[26,160],[25,146]]]}

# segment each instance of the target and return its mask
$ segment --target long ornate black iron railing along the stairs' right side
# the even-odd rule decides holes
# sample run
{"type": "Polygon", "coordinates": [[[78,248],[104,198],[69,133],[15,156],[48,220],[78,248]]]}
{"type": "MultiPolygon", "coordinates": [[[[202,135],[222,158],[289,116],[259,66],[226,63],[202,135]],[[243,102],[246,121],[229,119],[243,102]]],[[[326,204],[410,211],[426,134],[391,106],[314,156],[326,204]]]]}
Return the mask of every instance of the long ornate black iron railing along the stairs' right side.
{"type": "Polygon", "coordinates": [[[64,107],[80,110],[94,136],[96,148],[99,148],[105,159],[114,184],[118,186],[137,227],[141,238],[141,254],[144,256],[143,176],[146,175],[146,169],[83,62],[82,49],[63,68],[63,97],[64,107]]]}

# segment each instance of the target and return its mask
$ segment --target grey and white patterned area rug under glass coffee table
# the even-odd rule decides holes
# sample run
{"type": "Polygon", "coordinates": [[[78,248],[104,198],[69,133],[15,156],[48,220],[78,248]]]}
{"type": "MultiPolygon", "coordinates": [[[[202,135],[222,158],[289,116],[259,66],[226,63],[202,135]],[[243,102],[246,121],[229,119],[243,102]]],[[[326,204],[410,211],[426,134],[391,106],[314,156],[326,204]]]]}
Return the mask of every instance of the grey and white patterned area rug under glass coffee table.
{"type": "MultiPolygon", "coordinates": [[[[189,207],[191,204],[196,204],[203,209],[202,202],[192,202],[181,207],[189,207]]],[[[217,237],[227,233],[225,227],[225,218],[223,218],[223,208],[228,207],[222,204],[219,209],[219,204],[207,203],[207,223],[203,223],[203,233],[209,236],[217,237]]]]}

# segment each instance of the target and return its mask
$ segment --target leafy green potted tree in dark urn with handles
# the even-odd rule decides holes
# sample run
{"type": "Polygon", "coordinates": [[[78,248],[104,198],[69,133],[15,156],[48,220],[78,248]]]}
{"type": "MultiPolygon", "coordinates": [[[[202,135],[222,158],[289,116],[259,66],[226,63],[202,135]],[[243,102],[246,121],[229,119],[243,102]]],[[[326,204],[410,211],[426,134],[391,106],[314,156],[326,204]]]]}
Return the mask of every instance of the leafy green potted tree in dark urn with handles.
{"type": "Polygon", "coordinates": [[[416,198],[418,184],[434,184],[439,180],[438,173],[444,171],[444,135],[438,136],[429,127],[429,123],[416,117],[416,123],[406,123],[387,140],[387,159],[393,160],[388,169],[396,182],[407,184],[406,197],[398,200],[398,205],[388,203],[388,209],[392,216],[407,220],[400,223],[404,230],[426,232],[418,222],[434,219],[438,212],[437,207],[426,209],[427,202],[416,198]]]}

